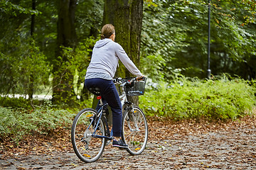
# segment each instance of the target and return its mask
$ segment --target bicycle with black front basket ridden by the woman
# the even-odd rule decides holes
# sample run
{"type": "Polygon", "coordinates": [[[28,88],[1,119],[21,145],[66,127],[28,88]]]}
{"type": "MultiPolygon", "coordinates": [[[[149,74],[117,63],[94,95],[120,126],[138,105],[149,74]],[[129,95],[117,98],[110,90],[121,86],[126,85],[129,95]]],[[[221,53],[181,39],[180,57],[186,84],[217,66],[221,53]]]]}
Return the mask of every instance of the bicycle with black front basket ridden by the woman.
{"type": "MultiPolygon", "coordinates": [[[[127,100],[127,96],[144,94],[146,77],[143,81],[136,79],[114,79],[119,84],[122,103],[122,141],[128,145],[127,152],[132,155],[141,154],[148,140],[148,126],[143,111],[127,100]]],[[[75,116],[71,130],[71,140],[75,154],[83,162],[95,162],[102,155],[105,146],[113,140],[112,130],[107,123],[107,103],[102,102],[100,89],[89,89],[100,100],[100,109],[82,109],[75,116]]]]}

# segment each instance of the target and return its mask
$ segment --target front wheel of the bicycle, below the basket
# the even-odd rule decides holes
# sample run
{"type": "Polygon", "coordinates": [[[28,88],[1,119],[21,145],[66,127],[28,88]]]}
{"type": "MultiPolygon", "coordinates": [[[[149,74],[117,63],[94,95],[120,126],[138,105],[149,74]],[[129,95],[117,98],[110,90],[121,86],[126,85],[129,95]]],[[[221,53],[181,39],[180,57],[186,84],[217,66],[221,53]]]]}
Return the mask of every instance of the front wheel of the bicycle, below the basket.
{"type": "Polygon", "coordinates": [[[124,113],[122,121],[122,140],[128,145],[129,154],[141,154],[146,148],[148,126],[142,110],[134,106],[131,111],[124,113]]]}

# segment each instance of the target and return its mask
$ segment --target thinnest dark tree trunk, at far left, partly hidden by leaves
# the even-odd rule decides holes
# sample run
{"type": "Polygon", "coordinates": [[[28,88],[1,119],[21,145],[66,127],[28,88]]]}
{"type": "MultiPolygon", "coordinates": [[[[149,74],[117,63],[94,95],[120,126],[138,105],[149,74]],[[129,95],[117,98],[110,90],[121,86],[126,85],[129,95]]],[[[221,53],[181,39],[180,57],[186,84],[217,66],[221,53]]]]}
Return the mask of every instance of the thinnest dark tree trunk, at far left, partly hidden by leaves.
{"type": "MultiPolygon", "coordinates": [[[[32,10],[36,10],[36,0],[32,0],[32,10]]],[[[33,38],[33,33],[35,32],[35,14],[31,15],[31,37],[33,38]]],[[[34,78],[33,78],[33,72],[31,72],[29,76],[29,85],[28,85],[28,98],[33,98],[33,90],[34,90],[34,78]]]]}

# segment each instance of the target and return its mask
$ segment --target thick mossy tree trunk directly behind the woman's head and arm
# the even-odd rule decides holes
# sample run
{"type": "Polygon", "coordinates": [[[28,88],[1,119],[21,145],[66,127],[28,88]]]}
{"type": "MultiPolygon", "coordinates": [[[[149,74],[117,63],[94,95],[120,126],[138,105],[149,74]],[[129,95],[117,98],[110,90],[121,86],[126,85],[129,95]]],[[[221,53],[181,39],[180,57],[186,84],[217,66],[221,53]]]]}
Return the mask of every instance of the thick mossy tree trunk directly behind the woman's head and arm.
{"type": "MultiPolygon", "coordinates": [[[[112,23],[116,30],[116,42],[139,67],[139,47],[142,32],[143,0],[105,0],[103,25],[112,23]]],[[[116,77],[131,77],[127,69],[119,64],[116,77]]],[[[129,98],[138,104],[139,98],[129,98]]]]}

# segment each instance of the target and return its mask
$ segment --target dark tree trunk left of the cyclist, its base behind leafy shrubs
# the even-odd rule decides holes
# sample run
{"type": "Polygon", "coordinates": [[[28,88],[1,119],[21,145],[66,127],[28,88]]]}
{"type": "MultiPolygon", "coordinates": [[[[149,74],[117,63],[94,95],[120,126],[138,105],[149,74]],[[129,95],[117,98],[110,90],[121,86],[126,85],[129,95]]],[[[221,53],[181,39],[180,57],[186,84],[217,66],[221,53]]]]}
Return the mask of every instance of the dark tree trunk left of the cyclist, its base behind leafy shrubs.
{"type": "Polygon", "coordinates": [[[73,74],[62,64],[68,62],[63,47],[75,47],[75,7],[77,0],[58,0],[57,49],[53,62],[53,103],[73,103],[73,74]]]}

